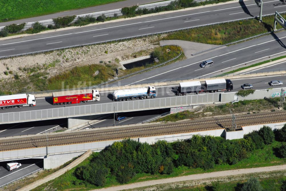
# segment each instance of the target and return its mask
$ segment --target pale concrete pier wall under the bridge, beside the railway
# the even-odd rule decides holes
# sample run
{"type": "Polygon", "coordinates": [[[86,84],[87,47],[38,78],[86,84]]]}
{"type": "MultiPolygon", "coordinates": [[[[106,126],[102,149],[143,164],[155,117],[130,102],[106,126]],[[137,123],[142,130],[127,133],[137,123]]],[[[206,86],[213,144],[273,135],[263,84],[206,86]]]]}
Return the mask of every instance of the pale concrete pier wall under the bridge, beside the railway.
{"type": "Polygon", "coordinates": [[[84,125],[88,125],[91,122],[94,123],[94,120],[100,121],[102,116],[106,115],[93,115],[93,116],[82,116],[82,117],[74,117],[67,119],[67,128],[78,128],[84,125]]]}

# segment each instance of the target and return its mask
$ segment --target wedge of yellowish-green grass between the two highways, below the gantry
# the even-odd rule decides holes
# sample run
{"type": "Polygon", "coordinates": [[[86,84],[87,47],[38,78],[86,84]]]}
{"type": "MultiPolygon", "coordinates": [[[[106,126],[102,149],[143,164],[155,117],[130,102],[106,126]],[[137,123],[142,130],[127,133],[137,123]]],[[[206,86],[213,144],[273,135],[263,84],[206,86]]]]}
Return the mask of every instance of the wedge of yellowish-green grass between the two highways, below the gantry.
{"type": "MultiPolygon", "coordinates": [[[[285,14],[282,14],[285,17],[285,14]]],[[[273,16],[263,17],[263,22],[257,19],[224,23],[208,27],[199,27],[179,32],[174,32],[163,37],[162,40],[186,40],[198,43],[223,45],[261,33],[273,30],[273,16]]],[[[277,25],[277,29],[281,26],[277,25]]],[[[275,34],[272,34],[276,37],[275,34]]]]}

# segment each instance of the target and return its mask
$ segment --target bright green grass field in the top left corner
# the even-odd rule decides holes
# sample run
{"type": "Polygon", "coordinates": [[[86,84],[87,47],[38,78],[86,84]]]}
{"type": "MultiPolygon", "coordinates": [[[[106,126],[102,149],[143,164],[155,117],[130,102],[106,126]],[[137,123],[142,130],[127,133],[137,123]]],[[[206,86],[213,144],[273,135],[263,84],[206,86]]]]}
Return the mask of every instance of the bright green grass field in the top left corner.
{"type": "Polygon", "coordinates": [[[0,22],[82,9],[123,0],[0,0],[0,22]]]}

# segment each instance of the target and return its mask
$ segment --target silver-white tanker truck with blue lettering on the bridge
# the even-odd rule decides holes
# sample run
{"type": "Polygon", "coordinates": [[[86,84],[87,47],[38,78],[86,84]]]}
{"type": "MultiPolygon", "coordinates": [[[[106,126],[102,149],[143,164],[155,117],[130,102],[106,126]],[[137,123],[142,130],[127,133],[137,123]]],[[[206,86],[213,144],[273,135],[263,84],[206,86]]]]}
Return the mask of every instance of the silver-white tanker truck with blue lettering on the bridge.
{"type": "Polygon", "coordinates": [[[113,92],[114,101],[129,101],[133,98],[135,99],[145,99],[145,98],[155,98],[156,89],[154,86],[131,88],[131,89],[121,89],[113,92]]]}

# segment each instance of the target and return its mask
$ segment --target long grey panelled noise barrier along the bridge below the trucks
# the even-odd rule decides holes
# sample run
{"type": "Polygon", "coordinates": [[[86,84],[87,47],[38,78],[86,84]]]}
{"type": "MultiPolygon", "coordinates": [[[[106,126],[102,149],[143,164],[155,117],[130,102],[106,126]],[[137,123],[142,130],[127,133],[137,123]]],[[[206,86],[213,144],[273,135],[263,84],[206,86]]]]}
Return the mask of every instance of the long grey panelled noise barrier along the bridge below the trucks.
{"type": "Polygon", "coordinates": [[[0,124],[108,114],[113,112],[131,112],[200,105],[218,102],[219,94],[221,93],[206,93],[199,95],[187,95],[126,102],[110,102],[85,106],[70,106],[63,108],[1,113],[0,124]]]}

